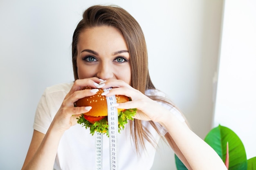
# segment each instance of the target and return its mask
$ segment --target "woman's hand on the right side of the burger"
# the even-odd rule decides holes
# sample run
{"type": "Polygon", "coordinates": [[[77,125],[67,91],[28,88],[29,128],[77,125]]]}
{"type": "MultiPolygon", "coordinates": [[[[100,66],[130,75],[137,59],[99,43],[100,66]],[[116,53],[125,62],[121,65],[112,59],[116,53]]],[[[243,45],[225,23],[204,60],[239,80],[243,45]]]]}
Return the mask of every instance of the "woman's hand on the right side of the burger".
{"type": "Polygon", "coordinates": [[[161,122],[163,119],[163,115],[159,115],[157,113],[164,113],[163,111],[166,109],[158,104],[156,101],[150,99],[140,91],[132,88],[130,85],[126,84],[122,80],[108,80],[106,85],[103,88],[110,88],[112,89],[106,94],[106,97],[112,95],[125,95],[130,97],[132,101],[119,103],[117,108],[123,109],[130,109],[130,108],[137,108],[137,114],[135,115],[135,119],[140,120],[152,120],[156,122],[161,122]],[[164,110],[162,110],[164,109],[164,110]],[[162,111],[161,111],[162,110],[162,111]]]}

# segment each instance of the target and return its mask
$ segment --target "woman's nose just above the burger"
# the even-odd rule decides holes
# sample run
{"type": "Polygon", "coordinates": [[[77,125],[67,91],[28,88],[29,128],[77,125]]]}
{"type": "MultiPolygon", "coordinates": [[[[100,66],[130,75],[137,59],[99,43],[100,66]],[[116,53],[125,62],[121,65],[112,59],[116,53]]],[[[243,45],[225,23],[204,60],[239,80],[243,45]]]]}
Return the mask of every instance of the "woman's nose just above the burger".
{"type": "Polygon", "coordinates": [[[108,64],[108,62],[102,62],[101,64],[99,64],[96,77],[107,80],[107,79],[111,79],[113,76],[114,76],[114,73],[112,71],[111,64],[108,64]]]}

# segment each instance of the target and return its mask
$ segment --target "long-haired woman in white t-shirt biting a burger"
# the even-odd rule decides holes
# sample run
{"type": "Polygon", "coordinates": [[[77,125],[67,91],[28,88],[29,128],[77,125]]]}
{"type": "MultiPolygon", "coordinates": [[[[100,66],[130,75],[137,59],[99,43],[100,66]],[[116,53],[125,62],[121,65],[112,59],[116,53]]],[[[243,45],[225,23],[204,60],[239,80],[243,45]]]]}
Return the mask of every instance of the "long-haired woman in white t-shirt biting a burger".
{"type": "MultiPolygon", "coordinates": [[[[103,94],[106,97],[132,99],[117,108],[137,108],[135,120],[119,135],[120,170],[149,170],[160,136],[189,170],[226,169],[216,152],[188,128],[177,108],[153,86],[143,32],[124,9],[92,6],[84,12],[73,35],[72,62],[74,83],[49,87],[40,99],[22,170],[95,169],[94,137],[76,123],[91,107],[74,107],[74,102],[94,95],[99,87],[114,87],[103,94]],[[85,86],[93,90],[81,90],[85,86]]],[[[103,169],[109,169],[107,137],[103,141],[103,169]]]]}

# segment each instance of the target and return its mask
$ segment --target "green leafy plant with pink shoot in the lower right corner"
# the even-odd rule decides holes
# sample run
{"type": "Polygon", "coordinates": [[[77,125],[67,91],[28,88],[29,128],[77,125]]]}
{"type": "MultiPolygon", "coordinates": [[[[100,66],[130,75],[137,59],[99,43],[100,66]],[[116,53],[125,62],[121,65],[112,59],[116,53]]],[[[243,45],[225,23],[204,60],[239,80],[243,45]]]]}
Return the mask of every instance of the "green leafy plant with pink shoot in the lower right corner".
{"type": "MultiPolygon", "coordinates": [[[[231,129],[219,125],[204,141],[218,153],[228,170],[256,170],[256,157],[247,160],[242,141],[231,129]]],[[[176,155],[175,162],[177,170],[187,170],[176,155]]]]}

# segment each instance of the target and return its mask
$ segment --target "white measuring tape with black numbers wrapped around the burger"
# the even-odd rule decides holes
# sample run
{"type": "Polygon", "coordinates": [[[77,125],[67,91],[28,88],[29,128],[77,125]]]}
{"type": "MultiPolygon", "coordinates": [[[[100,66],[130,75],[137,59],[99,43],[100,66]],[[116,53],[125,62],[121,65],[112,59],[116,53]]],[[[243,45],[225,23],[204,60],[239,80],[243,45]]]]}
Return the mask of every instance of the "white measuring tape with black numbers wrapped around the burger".
{"type": "MultiPolygon", "coordinates": [[[[106,88],[105,91],[110,91],[112,88],[106,88]]],[[[109,134],[109,152],[110,152],[110,170],[118,170],[117,165],[117,134],[118,134],[118,113],[117,108],[112,106],[116,104],[117,100],[115,95],[106,97],[108,104],[108,134],[109,134]]],[[[103,135],[97,132],[95,138],[95,164],[96,170],[102,169],[102,148],[103,148],[103,135]]]]}

